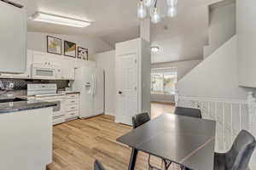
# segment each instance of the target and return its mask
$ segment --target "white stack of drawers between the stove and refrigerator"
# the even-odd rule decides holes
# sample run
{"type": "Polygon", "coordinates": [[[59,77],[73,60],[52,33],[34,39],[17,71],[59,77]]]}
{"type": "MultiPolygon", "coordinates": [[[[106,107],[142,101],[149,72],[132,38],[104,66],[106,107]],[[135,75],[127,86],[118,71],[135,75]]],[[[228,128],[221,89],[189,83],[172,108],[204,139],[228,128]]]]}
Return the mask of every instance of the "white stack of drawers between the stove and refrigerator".
{"type": "Polygon", "coordinates": [[[79,94],[66,94],[66,119],[71,121],[79,117],[79,94]]]}

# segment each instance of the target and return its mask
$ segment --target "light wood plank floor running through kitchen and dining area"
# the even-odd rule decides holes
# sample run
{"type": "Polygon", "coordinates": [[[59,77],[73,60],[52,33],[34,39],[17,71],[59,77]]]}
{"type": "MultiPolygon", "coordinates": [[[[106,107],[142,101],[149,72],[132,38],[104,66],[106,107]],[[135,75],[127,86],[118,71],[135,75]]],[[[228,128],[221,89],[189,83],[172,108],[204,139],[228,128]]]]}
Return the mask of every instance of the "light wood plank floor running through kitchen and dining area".
{"type": "MultiPolygon", "coordinates": [[[[172,112],[173,108],[173,105],[153,103],[152,116],[172,112]]],[[[92,170],[98,159],[107,170],[126,170],[131,149],[116,139],[130,130],[129,126],[115,123],[113,116],[96,116],[57,125],[53,128],[53,162],[47,169],[92,170]]],[[[153,158],[152,162],[161,167],[160,159],[153,158]]],[[[136,170],[144,169],[148,169],[148,155],[139,152],[136,170]]]]}

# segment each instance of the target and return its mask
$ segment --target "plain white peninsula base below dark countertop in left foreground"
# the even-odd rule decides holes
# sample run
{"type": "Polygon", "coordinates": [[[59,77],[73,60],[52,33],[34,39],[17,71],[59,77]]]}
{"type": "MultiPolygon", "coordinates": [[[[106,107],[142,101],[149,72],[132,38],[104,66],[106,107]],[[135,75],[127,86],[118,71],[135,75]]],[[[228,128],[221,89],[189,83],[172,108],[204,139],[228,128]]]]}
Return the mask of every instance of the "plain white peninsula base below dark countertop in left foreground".
{"type": "Polygon", "coordinates": [[[52,115],[52,107],[0,115],[1,169],[43,170],[52,162],[52,115]]]}

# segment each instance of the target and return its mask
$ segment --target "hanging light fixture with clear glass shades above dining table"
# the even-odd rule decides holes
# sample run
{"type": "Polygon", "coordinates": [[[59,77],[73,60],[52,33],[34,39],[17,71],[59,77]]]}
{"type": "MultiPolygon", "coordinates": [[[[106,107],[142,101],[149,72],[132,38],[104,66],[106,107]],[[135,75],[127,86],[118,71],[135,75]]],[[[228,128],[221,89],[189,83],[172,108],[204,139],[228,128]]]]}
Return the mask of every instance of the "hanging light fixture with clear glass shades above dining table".
{"type": "MultiPolygon", "coordinates": [[[[151,22],[154,24],[159,23],[161,20],[159,9],[157,8],[158,0],[139,0],[137,8],[137,17],[144,19],[147,17],[147,11],[151,11],[151,22]],[[148,8],[148,9],[147,9],[148,8]]],[[[177,16],[177,0],[166,0],[167,16],[177,16]]]]}

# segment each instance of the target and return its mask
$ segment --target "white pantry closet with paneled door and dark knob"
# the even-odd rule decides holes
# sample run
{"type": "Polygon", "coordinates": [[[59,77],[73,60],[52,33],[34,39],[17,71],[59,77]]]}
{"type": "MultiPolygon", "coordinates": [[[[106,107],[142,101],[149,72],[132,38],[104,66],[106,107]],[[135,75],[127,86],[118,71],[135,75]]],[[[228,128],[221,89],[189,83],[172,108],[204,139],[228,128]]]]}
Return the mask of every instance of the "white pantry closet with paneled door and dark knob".
{"type": "Polygon", "coordinates": [[[135,114],[150,114],[150,43],[142,38],[119,42],[115,52],[115,122],[131,125],[135,114]]]}

